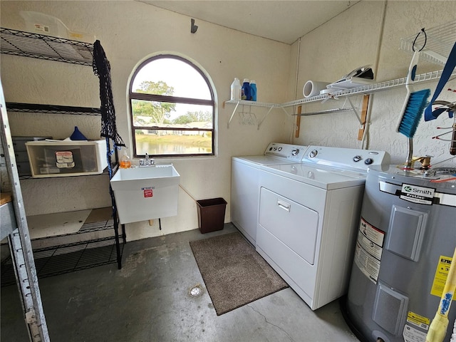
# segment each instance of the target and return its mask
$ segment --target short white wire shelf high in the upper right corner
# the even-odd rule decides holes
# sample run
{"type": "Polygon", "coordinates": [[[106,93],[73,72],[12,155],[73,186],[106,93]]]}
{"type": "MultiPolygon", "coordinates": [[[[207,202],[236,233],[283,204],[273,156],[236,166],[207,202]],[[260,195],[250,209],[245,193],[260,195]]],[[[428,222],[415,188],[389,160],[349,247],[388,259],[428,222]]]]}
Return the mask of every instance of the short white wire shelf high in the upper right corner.
{"type": "Polygon", "coordinates": [[[456,20],[430,29],[425,28],[425,33],[426,36],[420,34],[416,41],[418,32],[413,36],[401,38],[400,49],[413,53],[413,41],[415,41],[415,49],[420,50],[424,46],[420,59],[445,65],[456,41],[456,20]]]}

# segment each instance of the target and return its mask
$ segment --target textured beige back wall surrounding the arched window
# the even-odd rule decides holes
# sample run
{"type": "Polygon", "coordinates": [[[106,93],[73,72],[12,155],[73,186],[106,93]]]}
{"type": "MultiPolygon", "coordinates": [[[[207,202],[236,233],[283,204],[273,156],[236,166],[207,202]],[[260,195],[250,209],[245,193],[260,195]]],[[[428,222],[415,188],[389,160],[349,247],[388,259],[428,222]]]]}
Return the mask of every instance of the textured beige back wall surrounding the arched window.
{"type": "MultiPolygon", "coordinates": [[[[238,115],[228,129],[234,106],[223,105],[234,77],[255,79],[260,101],[286,101],[291,50],[287,44],[204,21],[196,22],[199,28],[192,34],[190,17],[138,1],[1,1],[0,6],[2,27],[24,29],[19,11],[28,10],[56,16],[72,31],[95,34],[110,61],[118,130],[127,145],[131,139],[126,94],[133,68],[157,51],[179,53],[201,66],[217,95],[217,156],[166,160],[174,162],[182,187],[194,199],[224,197],[229,203],[231,157],[261,154],[271,141],[289,142],[291,118],[281,110],[273,110],[260,130],[239,123],[238,115]]],[[[7,102],[100,105],[98,78],[90,67],[1,55],[1,81],[7,102]]],[[[252,111],[261,119],[267,108],[252,111]]],[[[88,138],[99,137],[99,119],[63,116],[10,113],[11,130],[13,135],[66,138],[78,125],[88,138]]],[[[27,214],[110,205],[106,176],[22,180],[21,187],[27,214]]],[[[162,219],[162,231],[157,220],[152,227],[147,222],[128,224],[128,239],[197,228],[192,197],[180,190],[179,213],[162,219]]],[[[225,222],[229,221],[228,204],[225,222]]]]}

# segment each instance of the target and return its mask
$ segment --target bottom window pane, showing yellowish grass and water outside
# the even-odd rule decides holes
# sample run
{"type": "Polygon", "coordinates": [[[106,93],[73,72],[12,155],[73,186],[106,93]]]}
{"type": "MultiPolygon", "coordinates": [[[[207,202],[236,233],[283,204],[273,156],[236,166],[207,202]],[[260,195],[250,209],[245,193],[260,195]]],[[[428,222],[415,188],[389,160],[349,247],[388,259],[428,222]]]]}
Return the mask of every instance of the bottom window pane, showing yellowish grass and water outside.
{"type": "Polygon", "coordinates": [[[135,130],[138,155],[212,153],[212,132],[201,130],[135,130]]]}

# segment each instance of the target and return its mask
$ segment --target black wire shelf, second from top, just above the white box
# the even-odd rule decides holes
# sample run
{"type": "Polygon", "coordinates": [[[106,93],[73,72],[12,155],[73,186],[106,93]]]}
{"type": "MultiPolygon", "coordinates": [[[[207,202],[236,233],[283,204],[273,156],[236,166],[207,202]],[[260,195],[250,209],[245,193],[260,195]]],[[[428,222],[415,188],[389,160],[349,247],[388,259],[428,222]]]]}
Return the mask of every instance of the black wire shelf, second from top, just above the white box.
{"type": "Polygon", "coordinates": [[[68,114],[100,116],[100,108],[73,107],[70,105],[40,105],[37,103],[7,102],[6,109],[15,113],[68,114]]]}

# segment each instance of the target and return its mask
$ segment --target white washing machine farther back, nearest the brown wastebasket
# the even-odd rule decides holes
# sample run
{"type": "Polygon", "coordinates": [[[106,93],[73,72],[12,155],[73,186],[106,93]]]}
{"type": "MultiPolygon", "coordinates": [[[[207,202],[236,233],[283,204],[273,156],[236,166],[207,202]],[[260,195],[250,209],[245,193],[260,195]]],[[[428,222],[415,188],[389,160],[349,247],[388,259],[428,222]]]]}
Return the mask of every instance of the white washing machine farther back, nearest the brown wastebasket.
{"type": "Polygon", "coordinates": [[[232,157],[231,220],[255,245],[259,203],[259,167],[274,164],[298,164],[306,146],[271,142],[264,155],[232,157]]]}

